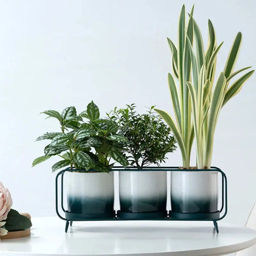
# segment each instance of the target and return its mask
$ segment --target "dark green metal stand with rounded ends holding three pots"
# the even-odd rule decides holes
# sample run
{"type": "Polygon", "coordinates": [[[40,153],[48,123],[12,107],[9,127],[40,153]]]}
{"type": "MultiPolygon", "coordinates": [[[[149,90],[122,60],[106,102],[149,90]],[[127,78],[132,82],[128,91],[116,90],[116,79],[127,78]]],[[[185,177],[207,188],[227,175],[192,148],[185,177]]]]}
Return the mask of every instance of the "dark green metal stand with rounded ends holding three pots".
{"type": "MultiPolygon", "coordinates": [[[[113,167],[112,171],[127,171],[127,170],[137,170],[135,167],[129,167],[127,169],[124,169],[122,167],[113,167]]],[[[228,211],[228,188],[227,188],[227,179],[225,173],[219,169],[218,167],[211,167],[209,170],[206,169],[178,169],[178,167],[147,167],[145,169],[142,169],[145,172],[150,171],[185,171],[185,172],[211,172],[211,171],[217,171],[220,172],[222,175],[222,207],[217,212],[212,212],[209,214],[179,214],[172,211],[169,211],[169,213],[126,213],[126,212],[120,212],[119,210],[116,212],[115,210],[111,212],[110,214],[73,214],[71,212],[68,212],[63,207],[63,180],[64,180],[64,174],[65,172],[71,171],[70,169],[61,170],[58,172],[56,178],[55,178],[55,210],[62,220],[66,221],[66,227],[65,232],[68,231],[68,226],[72,226],[73,221],[103,221],[103,220],[185,220],[185,221],[212,221],[214,222],[214,228],[218,233],[218,220],[222,220],[228,211]],[[60,196],[61,196],[61,208],[63,212],[65,213],[65,217],[62,217],[60,213],[58,212],[58,178],[61,179],[61,190],[60,190],[60,196]],[[222,214],[222,215],[220,215],[222,214]]],[[[142,171],[140,170],[140,171],[142,171]]],[[[81,170],[82,171],[82,170],[81,170]]]]}

